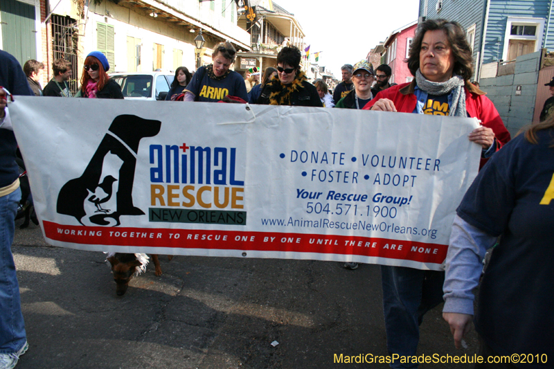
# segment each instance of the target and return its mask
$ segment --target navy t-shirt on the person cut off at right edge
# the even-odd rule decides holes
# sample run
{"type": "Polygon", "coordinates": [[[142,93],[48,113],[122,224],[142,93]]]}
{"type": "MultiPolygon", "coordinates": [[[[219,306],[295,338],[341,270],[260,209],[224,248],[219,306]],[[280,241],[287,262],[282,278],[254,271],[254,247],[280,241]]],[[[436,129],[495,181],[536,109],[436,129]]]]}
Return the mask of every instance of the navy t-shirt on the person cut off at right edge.
{"type": "Polygon", "coordinates": [[[475,326],[501,355],[554,358],[554,129],[539,144],[517,136],[495,153],[465,194],[458,215],[502,235],[479,289],[475,326]]]}

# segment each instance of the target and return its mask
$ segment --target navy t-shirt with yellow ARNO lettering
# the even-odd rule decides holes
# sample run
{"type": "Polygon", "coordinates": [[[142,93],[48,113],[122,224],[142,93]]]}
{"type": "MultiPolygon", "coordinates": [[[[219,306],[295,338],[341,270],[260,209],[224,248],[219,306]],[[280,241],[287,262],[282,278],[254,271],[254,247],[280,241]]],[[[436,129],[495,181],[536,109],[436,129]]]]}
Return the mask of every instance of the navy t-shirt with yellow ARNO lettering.
{"type": "Polygon", "coordinates": [[[201,66],[185,90],[194,93],[198,101],[217,102],[227,95],[237,96],[248,101],[244,80],[235,71],[229,72],[222,80],[214,80],[208,76],[206,68],[201,66]]]}

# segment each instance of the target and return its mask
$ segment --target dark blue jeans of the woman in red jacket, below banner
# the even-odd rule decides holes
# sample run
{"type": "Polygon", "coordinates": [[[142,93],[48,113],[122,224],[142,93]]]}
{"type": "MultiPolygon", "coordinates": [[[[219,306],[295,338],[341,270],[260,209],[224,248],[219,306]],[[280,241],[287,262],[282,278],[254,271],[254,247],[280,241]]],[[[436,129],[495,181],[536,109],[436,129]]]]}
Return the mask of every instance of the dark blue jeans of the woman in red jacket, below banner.
{"type": "MultiPolygon", "coordinates": [[[[443,302],[444,271],[381,266],[386,348],[389,354],[414,356],[423,315],[443,302]]],[[[418,368],[415,363],[391,363],[391,368],[418,368]]]]}

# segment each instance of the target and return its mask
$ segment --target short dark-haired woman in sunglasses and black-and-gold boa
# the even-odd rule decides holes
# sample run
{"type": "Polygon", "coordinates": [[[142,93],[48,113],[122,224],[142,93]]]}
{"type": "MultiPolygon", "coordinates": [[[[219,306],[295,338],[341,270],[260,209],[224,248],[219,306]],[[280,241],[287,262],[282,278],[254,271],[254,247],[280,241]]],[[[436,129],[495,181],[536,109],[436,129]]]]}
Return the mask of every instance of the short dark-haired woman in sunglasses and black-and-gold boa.
{"type": "Polygon", "coordinates": [[[295,46],[287,46],[277,54],[278,78],[269,81],[258,104],[323,107],[316,87],[307,82],[300,70],[301,53],[295,46]]]}

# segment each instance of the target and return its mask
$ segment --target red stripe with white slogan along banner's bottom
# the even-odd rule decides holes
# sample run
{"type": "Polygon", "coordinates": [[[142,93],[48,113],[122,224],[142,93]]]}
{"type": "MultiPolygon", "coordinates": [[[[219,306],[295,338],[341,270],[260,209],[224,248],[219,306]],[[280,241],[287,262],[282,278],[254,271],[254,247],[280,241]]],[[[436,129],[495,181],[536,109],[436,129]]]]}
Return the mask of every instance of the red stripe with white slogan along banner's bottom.
{"type": "Polygon", "coordinates": [[[435,264],[443,262],[447,253],[445,244],[375,237],[168,228],[106,228],[66,226],[46,221],[43,223],[47,238],[75,244],[336,253],[435,264]]]}

